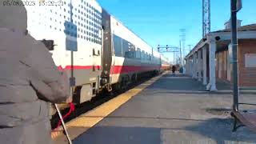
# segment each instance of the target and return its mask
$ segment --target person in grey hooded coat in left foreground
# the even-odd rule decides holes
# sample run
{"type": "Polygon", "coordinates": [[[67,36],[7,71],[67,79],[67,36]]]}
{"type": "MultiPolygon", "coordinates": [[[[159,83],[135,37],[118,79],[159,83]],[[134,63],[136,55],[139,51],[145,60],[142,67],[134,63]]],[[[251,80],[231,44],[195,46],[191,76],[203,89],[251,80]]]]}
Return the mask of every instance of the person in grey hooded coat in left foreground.
{"type": "Polygon", "coordinates": [[[50,144],[50,103],[69,98],[68,78],[46,46],[27,33],[26,8],[4,2],[0,0],[0,142],[50,144]]]}

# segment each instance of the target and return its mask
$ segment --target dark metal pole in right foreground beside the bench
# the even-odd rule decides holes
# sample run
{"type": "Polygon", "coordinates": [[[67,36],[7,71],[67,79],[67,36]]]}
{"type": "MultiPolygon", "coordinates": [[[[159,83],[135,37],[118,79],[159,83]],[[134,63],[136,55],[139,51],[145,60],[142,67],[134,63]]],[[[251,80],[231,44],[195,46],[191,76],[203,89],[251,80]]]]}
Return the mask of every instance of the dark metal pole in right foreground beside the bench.
{"type": "Polygon", "coordinates": [[[231,2],[231,33],[232,33],[232,57],[233,57],[233,110],[238,111],[238,31],[237,13],[242,9],[242,0],[230,0],[231,2]]]}

